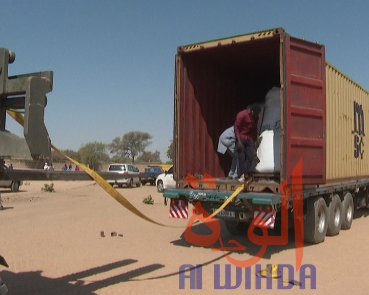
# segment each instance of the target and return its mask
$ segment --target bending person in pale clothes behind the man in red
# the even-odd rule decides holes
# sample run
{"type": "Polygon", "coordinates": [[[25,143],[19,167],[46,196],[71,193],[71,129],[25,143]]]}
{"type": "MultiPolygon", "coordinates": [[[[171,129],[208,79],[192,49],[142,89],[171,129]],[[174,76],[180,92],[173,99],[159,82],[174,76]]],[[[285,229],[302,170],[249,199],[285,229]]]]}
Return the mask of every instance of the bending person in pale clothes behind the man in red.
{"type": "Polygon", "coordinates": [[[232,156],[232,164],[228,179],[237,179],[237,171],[239,170],[238,153],[236,146],[236,136],[233,126],[224,130],[219,136],[218,153],[225,154],[228,152],[232,156]]]}

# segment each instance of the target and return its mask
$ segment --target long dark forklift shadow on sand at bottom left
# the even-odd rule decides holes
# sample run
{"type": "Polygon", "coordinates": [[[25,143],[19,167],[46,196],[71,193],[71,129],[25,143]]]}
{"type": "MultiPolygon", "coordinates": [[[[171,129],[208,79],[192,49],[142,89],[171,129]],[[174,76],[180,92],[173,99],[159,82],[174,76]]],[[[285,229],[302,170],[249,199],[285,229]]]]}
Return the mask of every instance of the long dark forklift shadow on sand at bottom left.
{"type": "MultiPolygon", "coordinates": [[[[150,264],[144,267],[139,267],[130,271],[122,272],[117,276],[106,278],[100,281],[93,281],[86,284],[84,278],[110,271],[112,269],[121,268],[138,260],[126,259],[110,263],[107,265],[87,269],[72,273],[60,278],[47,278],[42,276],[42,271],[27,271],[14,273],[3,270],[0,276],[3,282],[7,285],[11,294],[38,294],[38,295],[96,295],[95,291],[106,288],[121,282],[127,282],[135,277],[145,275],[146,273],[155,271],[165,265],[150,264]]],[[[122,270],[124,271],[124,270],[122,270]]]]}

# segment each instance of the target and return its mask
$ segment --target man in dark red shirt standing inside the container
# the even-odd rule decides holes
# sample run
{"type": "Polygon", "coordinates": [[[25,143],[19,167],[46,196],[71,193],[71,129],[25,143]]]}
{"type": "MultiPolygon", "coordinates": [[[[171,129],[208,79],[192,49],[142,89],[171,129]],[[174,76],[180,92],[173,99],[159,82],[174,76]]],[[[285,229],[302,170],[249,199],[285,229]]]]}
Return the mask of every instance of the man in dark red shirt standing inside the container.
{"type": "Polygon", "coordinates": [[[248,178],[248,172],[257,149],[257,125],[261,108],[253,104],[248,109],[239,112],[236,116],[234,131],[237,141],[239,161],[238,180],[248,178]]]}

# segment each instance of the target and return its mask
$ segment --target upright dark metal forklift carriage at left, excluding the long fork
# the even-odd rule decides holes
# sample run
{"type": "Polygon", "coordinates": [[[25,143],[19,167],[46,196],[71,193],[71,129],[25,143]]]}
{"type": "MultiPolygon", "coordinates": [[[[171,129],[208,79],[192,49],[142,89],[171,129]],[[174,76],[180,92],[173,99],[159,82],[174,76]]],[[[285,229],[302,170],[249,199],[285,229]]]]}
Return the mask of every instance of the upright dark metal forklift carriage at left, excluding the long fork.
{"type": "Polygon", "coordinates": [[[46,94],[52,91],[53,71],[8,76],[15,53],[0,48],[0,174],[4,178],[4,158],[47,160],[51,141],[44,123],[46,94]],[[6,130],[6,111],[23,111],[24,137],[6,130]]]}

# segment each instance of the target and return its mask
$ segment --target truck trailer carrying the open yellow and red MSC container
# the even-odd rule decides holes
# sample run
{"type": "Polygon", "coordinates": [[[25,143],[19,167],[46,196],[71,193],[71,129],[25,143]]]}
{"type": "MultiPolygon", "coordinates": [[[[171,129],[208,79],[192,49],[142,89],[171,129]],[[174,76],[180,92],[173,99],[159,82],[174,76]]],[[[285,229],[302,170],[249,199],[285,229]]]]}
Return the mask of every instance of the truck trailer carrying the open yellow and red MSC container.
{"type": "MultiPolygon", "coordinates": [[[[226,178],[232,159],[217,152],[219,136],[239,111],[264,103],[273,88],[280,89],[275,156],[280,167],[251,171],[251,181],[216,218],[234,235],[244,234],[258,216],[264,227],[277,227],[281,184],[293,189],[293,170],[300,160],[306,242],[320,243],[350,229],[354,210],[368,208],[368,91],[326,61],[324,45],[274,28],[178,47],[176,188],[163,193],[170,199],[170,217],[188,218],[189,203],[197,202],[211,214],[239,187],[240,182],[226,178]],[[189,183],[191,177],[198,181],[189,183]],[[210,179],[215,179],[213,185],[210,179]]],[[[291,215],[291,196],[288,208],[291,215]]],[[[293,219],[289,221],[292,226],[293,219]]]]}

